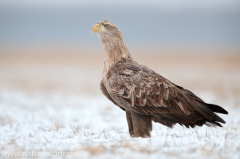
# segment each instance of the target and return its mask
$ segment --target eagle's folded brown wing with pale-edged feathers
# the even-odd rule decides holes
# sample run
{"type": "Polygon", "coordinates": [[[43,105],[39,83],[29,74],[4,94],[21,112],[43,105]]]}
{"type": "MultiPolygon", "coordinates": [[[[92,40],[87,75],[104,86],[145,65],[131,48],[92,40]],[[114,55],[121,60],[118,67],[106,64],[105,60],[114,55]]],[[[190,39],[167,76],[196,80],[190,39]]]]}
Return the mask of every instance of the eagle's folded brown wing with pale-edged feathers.
{"type": "Polygon", "coordinates": [[[225,123],[192,92],[135,62],[115,65],[109,72],[108,84],[120,105],[124,104],[140,114],[153,115],[173,124],[189,123],[190,126],[191,123],[202,125],[207,121],[218,126],[220,124],[216,121],[225,123]]]}

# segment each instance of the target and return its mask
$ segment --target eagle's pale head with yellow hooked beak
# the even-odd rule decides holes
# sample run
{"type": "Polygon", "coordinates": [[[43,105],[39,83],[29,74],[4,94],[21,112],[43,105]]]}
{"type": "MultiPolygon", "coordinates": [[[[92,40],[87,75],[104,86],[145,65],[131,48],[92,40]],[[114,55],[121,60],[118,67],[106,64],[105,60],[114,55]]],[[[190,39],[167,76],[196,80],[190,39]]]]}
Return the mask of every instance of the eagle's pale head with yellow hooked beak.
{"type": "Polygon", "coordinates": [[[114,25],[109,20],[102,20],[94,24],[91,29],[91,33],[96,32],[100,39],[112,39],[119,38],[122,39],[122,33],[116,25],[114,25]]]}

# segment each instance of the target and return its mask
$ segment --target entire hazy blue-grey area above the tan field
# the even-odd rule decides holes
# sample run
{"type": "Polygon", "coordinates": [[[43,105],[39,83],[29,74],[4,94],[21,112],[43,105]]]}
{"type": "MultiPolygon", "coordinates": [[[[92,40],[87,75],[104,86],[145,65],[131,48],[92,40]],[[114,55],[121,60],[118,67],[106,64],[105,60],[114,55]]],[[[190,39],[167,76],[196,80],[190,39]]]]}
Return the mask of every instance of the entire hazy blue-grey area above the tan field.
{"type": "Polygon", "coordinates": [[[133,45],[240,43],[240,0],[0,0],[0,45],[99,44],[103,19],[133,45]]]}

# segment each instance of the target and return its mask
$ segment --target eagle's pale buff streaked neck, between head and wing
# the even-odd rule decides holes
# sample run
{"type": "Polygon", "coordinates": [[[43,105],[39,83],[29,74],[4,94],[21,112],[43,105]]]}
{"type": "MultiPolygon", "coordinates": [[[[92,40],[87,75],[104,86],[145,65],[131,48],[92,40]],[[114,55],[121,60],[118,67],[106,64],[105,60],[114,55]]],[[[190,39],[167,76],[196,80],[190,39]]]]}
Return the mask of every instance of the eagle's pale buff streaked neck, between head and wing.
{"type": "Polygon", "coordinates": [[[124,44],[122,37],[112,38],[108,35],[99,36],[104,49],[103,77],[109,69],[120,60],[132,61],[132,57],[124,44]]]}

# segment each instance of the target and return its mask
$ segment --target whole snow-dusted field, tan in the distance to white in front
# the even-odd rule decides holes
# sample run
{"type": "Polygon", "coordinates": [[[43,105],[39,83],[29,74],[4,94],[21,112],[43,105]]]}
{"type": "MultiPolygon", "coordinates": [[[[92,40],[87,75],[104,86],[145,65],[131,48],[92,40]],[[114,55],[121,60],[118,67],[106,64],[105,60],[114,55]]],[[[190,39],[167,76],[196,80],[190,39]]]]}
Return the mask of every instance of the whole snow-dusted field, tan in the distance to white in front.
{"type": "Polygon", "coordinates": [[[124,111],[100,92],[102,54],[29,56],[0,58],[1,157],[240,158],[239,60],[183,57],[175,67],[170,57],[149,59],[147,66],[229,115],[220,115],[222,128],[153,123],[152,138],[131,138],[124,111]]]}

